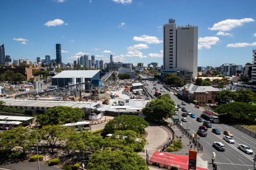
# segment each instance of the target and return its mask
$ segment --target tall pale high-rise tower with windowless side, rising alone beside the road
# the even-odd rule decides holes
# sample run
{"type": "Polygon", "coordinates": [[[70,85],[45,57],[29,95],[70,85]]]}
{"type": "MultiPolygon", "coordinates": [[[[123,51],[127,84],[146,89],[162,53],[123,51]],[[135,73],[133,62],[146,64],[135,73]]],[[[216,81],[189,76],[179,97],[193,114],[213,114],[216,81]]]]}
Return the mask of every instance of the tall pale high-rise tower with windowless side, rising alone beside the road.
{"type": "Polygon", "coordinates": [[[197,76],[198,27],[178,26],[175,20],[163,25],[163,70],[164,73],[192,71],[197,76]]]}

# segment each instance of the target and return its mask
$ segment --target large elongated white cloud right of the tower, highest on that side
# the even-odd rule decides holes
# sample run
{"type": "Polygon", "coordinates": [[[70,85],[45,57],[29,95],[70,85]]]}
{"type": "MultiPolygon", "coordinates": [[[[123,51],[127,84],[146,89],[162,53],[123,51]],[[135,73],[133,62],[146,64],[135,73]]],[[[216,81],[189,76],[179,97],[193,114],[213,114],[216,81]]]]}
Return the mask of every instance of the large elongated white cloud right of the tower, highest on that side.
{"type": "Polygon", "coordinates": [[[244,23],[255,21],[252,18],[243,18],[243,19],[227,19],[224,21],[220,21],[215,23],[212,28],[208,28],[209,30],[219,30],[219,31],[229,31],[233,28],[242,26],[244,23]]]}

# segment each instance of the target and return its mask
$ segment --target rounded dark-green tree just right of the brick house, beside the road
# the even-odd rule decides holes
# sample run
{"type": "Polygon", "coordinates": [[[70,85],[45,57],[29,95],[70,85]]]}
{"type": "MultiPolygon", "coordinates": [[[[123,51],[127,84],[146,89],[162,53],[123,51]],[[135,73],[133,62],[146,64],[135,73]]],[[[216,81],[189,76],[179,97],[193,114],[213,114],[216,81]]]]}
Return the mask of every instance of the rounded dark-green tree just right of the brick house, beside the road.
{"type": "Polygon", "coordinates": [[[219,104],[226,104],[233,101],[236,97],[237,94],[234,91],[223,90],[216,94],[214,101],[218,102],[219,104]]]}

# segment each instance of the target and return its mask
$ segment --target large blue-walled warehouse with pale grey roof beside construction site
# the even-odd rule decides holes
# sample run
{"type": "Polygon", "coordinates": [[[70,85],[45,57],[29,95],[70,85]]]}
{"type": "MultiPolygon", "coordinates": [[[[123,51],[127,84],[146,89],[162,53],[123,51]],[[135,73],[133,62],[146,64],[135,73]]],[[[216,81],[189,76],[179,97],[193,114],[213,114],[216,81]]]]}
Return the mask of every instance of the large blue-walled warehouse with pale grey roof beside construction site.
{"type": "MultiPolygon", "coordinates": [[[[77,83],[93,82],[103,76],[101,70],[65,70],[51,78],[51,85],[65,87],[77,83]]],[[[85,87],[87,89],[87,87],[85,87]]]]}

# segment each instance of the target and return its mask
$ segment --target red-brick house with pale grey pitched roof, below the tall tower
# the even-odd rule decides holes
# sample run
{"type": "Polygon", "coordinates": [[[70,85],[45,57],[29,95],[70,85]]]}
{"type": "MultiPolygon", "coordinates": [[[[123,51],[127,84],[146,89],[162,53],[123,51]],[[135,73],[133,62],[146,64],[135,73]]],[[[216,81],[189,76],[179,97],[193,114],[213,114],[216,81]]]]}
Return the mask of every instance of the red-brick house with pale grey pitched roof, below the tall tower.
{"type": "Polygon", "coordinates": [[[211,86],[197,86],[193,83],[187,83],[180,90],[180,96],[190,102],[196,100],[199,103],[216,103],[214,97],[220,90],[211,86]]]}

